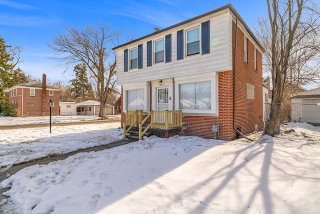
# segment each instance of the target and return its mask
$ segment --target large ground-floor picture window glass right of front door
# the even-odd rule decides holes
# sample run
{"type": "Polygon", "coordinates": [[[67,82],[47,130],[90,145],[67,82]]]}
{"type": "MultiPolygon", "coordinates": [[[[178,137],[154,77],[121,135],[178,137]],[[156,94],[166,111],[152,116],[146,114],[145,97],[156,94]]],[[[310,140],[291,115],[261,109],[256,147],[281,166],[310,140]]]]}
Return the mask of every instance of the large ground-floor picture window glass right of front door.
{"type": "Polygon", "coordinates": [[[179,108],[211,110],[211,82],[195,82],[179,85],[179,108]]]}

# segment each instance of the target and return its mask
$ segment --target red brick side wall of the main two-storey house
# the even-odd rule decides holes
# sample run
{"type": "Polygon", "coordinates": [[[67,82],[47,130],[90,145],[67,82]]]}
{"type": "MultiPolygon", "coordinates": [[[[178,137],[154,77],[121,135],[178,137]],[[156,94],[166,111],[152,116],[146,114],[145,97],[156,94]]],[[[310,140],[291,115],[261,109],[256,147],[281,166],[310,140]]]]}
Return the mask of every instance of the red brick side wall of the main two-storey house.
{"type": "MultiPolygon", "coordinates": [[[[234,40],[235,24],[232,25],[234,40]]],[[[262,54],[257,51],[257,69],[254,67],[254,45],[247,39],[247,63],[244,62],[243,32],[238,28],[236,46],[235,127],[248,134],[262,127],[262,54]],[[254,85],[254,99],[247,98],[247,83],[254,85]]],[[[232,57],[233,57],[232,53],[232,57]]]]}

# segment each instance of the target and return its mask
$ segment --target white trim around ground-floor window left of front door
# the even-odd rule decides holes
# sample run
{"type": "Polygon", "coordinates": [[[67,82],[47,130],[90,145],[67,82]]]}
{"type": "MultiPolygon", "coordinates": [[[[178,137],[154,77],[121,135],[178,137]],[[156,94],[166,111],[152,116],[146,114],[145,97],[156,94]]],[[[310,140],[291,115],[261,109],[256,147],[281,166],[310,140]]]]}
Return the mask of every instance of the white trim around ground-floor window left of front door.
{"type": "Polygon", "coordinates": [[[143,112],[150,112],[150,83],[149,82],[136,82],[131,84],[123,85],[123,109],[122,111],[126,112],[126,91],[127,90],[136,90],[136,89],[143,89],[144,92],[144,102],[143,112]]]}

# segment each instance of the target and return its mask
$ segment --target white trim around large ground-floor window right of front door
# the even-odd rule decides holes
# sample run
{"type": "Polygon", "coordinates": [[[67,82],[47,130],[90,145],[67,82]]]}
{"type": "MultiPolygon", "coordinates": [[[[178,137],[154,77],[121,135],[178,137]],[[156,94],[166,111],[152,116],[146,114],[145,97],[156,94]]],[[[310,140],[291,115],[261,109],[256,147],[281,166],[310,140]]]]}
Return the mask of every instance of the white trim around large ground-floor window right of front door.
{"type": "Polygon", "coordinates": [[[180,76],[174,78],[174,109],[180,109],[180,84],[185,83],[195,83],[195,82],[204,82],[204,81],[211,81],[211,110],[200,110],[200,109],[181,109],[183,113],[189,115],[211,115],[217,116],[218,115],[218,106],[217,106],[217,77],[216,72],[208,72],[208,73],[199,73],[187,76],[180,76]]]}

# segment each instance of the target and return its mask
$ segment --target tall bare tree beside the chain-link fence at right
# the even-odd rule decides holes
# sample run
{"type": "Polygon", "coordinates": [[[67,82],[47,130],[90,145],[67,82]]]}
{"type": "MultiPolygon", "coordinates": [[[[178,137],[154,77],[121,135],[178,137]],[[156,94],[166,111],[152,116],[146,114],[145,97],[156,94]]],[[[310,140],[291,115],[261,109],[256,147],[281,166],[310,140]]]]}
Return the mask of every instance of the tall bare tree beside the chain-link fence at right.
{"type": "Polygon", "coordinates": [[[309,83],[305,80],[318,78],[313,71],[317,65],[312,68],[309,65],[319,52],[318,38],[314,38],[319,12],[311,0],[266,0],[266,3],[269,24],[265,19],[259,20],[262,26],[259,37],[266,49],[264,65],[272,79],[272,103],[265,133],[274,136],[285,83],[304,85],[309,83]]]}

